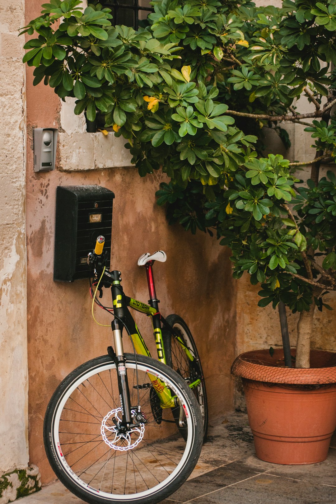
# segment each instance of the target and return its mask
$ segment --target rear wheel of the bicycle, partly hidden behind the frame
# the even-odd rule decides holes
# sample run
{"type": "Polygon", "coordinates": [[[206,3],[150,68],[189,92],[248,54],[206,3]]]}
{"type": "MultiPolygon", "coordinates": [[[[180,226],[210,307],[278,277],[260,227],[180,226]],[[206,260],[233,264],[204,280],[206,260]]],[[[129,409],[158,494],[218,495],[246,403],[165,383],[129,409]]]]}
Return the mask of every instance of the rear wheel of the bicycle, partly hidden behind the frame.
{"type": "MultiPolygon", "coordinates": [[[[197,403],[200,407],[201,415],[203,417],[203,437],[205,440],[208,433],[209,421],[207,391],[196,343],[192,337],[190,329],[181,317],[175,314],[171,314],[168,315],[166,321],[182,339],[183,343],[186,345],[190,353],[195,357],[195,360],[197,362],[197,368],[195,369],[195,367],[192,366],[192,363],[188,359],[185,351],[183,350],[183,347],[179,344],[178,340],[171,334],[168,329],[164,328],[162,330],[167,364],[172,369],[174,369],[187,384],[194,382],[196,379],[200,380],[199,385],[193,388],[192,392],[196,397],[197,403]]],[[[173,410],[173,416],[178,425],[179,411],[173,410]]],[[[184,437],[185,429],[180,429],[180,432],[184,437]]]]}

